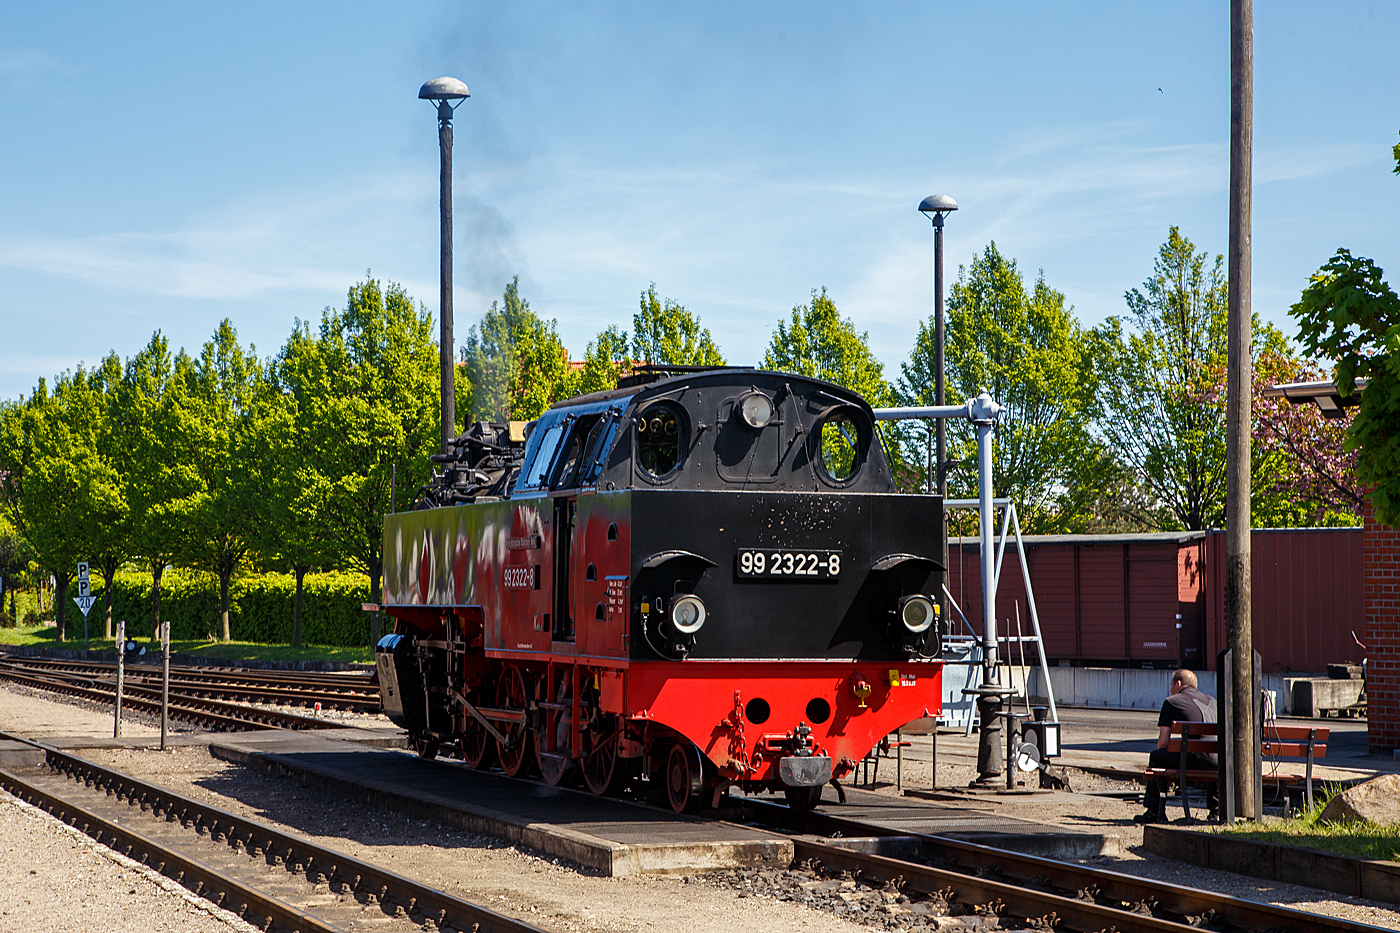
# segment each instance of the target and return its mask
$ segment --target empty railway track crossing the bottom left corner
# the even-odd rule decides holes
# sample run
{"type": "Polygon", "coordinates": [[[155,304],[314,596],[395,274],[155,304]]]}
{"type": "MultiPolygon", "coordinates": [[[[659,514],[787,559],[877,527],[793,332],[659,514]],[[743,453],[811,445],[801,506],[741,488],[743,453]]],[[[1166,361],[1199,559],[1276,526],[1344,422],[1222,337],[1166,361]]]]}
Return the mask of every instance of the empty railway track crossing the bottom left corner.
{"type": "Polygon", "coordinates": [[[263,930],[542,933],[77,755],[18,735],[0,737],[41,748],[48,765],[22,776],[0,770],[0,787],[263,930]]]}

